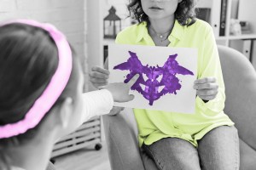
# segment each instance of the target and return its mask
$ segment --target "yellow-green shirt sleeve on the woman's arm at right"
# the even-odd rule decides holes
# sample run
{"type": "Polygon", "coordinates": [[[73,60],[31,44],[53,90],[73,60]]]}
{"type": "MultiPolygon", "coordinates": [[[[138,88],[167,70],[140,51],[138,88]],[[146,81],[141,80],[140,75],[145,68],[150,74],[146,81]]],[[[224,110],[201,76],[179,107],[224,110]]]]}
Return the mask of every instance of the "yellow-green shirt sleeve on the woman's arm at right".
{"type": "Polygon", "coordinates": [[[205,43],[202,49],[202,65],[198,78],[215,77],[218,83],[218,94],[215,99],[205,103],[199,97],[196,98],[203,112],[209,116],[216,116],[224,110],[224,79],[218,56],[218,48],[211,27],[207,27],[205,43]]]}

